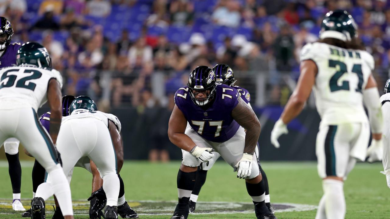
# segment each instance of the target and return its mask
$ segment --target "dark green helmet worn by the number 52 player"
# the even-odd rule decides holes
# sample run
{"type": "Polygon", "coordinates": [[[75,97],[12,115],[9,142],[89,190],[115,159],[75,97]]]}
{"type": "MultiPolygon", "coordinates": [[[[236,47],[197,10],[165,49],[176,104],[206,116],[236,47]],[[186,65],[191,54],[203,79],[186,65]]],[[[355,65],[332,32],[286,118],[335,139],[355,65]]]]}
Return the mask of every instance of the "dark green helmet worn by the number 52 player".
{"type": "Polygon", "coordinates": [[[51,68],[51,58],[44,46],[37,42],[26,42],[16,53],[16,65],[36,65],[51,68]]]}

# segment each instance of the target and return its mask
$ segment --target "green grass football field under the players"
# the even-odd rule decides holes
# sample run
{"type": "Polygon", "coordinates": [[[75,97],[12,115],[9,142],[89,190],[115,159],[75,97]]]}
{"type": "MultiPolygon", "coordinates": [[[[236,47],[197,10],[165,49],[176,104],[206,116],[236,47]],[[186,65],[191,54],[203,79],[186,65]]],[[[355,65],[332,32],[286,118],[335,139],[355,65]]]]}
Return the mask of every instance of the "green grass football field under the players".
{"type": "MultiPolygon", "coordinates": [[[[12,189],[6,161],[0,161],[0,218],[20,218],[11,208],[12,189]]],[[[176,175],[180,162],[125,162],[121,176],[126,200],[140,218],[169,219],[176,206],[176,175]]],[[[279,219],[313,219],[322,196],[321,180],[314,162],[263,162],[271,194],[271,203],[279,219]]],[[[22,202],[27,208],[32,196],[32,162],[22,162],[22,202]]],[[[379,173],[381,163],[358,163],[345,183],[348,219],[390,218],[390,189],[379,173]]],[[[88,218],[92,175],[75,168],[71,182],[75,218],[88,218]]],[[[51,218],[53,201],[46,204],[46,218],[51,218]]],[[[255,218],[245,182],[223,161],[209,171],[197,204],[197,214],[189,219],[255,218]]]]}

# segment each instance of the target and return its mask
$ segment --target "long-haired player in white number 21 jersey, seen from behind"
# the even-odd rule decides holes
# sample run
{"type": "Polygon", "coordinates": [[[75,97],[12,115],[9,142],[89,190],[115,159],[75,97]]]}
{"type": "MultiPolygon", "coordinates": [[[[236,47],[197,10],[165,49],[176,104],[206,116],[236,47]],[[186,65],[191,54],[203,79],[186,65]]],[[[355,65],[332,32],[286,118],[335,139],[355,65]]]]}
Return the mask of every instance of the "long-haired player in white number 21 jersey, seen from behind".
{"type": "Polygon", "coordinates": [[[321,117],[316,155],[324,191],[316,219],[344,219],[344,180],[357,159],[365,160],[369,123],[374,142],[381,143],[382,112],[371,74],[374,58],[356,41],[356,29],[346,11],[326,14],[320,40],[302,48],[297,87],[271,132],[271,142],[278,148],[278,137],[287,134],[287,124],[301,112],[313,88],[321,117]]]}

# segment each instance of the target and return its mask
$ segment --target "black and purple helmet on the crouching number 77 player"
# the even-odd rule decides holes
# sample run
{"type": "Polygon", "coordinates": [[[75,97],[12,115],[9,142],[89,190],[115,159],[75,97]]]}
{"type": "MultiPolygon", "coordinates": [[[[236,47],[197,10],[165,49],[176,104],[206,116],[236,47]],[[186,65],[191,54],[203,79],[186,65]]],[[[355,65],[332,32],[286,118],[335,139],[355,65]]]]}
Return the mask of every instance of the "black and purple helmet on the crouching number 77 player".
{"type": "Polygon", "coordinates": [[[211,101],[215,95],[215,74],[214,71],[201,65],[196,67],[188,78],[188,88],[190,88],[190,97],[192,101],[198,106],[204,106],[211,101]],[[193,91],[205,91],[209,90],[209,94],[205,98],[195,98],[193,91]]]}

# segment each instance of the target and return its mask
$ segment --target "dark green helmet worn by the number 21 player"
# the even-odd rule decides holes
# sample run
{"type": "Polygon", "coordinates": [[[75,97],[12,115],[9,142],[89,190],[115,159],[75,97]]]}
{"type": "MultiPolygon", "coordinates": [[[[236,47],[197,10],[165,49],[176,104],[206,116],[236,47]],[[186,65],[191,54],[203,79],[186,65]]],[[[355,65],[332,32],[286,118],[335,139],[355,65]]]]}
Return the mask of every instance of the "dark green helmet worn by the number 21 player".
{"type": "Polygon", "coordinates": [[[326,13],[322,23],[319,38],[335,38],[342,41],[351,41],[358,36],[358,26],[351,14],[344,10],[335,10],[326,13]]]}

